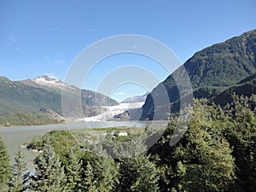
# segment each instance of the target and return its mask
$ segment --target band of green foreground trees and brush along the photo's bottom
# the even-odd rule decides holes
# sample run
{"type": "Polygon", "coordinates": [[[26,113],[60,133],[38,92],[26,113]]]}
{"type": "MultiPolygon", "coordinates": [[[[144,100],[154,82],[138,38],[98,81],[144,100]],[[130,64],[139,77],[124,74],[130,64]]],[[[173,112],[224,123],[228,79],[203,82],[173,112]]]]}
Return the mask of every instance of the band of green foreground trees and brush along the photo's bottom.
{"type": "Polygon", "coordinates": [[[181,113],[187,112],[192,115],[186,130],[180,127],[174,135],[173,117],[160,140],[143,153],[158,131],[146,129],[149,137],[108,132],[97,148],[100,156],[74,145],[70,133],[52,131],[32,142],[42,149],[33,175],[26,172],[20,151],[11,172],[0,140],[0,191],[255,191],[256,96],[233,96],[224,108],[196,99],[181,113]],[[171,147],[170,138],[179,134],[182,139],[171,147]],[[124,153],[131,157],[121,158],[124,153]]]}

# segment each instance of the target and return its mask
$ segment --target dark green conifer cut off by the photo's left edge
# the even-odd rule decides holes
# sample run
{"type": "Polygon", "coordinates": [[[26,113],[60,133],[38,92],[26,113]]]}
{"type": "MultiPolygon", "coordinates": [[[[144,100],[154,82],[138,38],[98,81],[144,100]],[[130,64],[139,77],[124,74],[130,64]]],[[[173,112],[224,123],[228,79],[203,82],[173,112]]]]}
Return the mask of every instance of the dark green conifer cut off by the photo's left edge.
{"type": "Polygon", "coordinates": [[[9,154],[0,136],[0,190],[4,189],[5,183],[9,180],[11,172],[9,154]]]}

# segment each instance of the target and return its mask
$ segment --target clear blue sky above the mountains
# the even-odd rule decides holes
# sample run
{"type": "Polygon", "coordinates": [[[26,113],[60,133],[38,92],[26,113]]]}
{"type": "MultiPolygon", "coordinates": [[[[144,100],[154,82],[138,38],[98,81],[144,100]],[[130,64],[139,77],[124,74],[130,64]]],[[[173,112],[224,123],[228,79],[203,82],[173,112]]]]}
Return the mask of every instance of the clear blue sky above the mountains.
{"type": "MultiPolygon", "coordinates": [[[[0,76],[64,79],[74,58],[94,42],[139,34],[166,44],[183,63],[196,51],[256,28],[254,0],[0,0],[0,76]]],[[[96,90],[115,67],[139,65],[161,81],[169,74],[142,55],[116,55],[98,63],[84,87],[96,90]]],[[[152,88],[156,84],[152,84],[152,88]]],[[[143,85],[113,91],[121,101],[142,95],[143,85]]]]}

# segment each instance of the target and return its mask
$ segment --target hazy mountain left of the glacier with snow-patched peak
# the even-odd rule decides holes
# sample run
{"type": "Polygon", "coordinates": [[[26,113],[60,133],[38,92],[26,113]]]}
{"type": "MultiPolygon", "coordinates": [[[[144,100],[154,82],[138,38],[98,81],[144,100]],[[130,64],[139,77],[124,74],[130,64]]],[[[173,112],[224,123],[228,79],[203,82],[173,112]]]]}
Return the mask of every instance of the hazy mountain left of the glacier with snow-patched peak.
{"type": "Polygon", "coordinates": [[[0,78],[0,125],[42,125],[62,118],[61,90],[81,93],[85,117],[102,113],[101,106],[119,103],[91,90],[81,90],[48,76],[24,81],[0,78]]]}

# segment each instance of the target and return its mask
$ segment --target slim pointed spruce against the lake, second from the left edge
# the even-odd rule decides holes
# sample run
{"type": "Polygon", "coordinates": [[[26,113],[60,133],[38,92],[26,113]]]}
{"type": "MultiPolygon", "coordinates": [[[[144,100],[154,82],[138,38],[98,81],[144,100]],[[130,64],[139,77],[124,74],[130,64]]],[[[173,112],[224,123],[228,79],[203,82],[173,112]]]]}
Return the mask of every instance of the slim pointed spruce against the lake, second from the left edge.
{"type": "Polygon", "coordinates": [[[15,153],[15,165],[13,166],[13,176],[9,182],[9,192],[26,191],[28,187],[29,172],[26,172],[26,163],[21,148],[15,153]]]}

